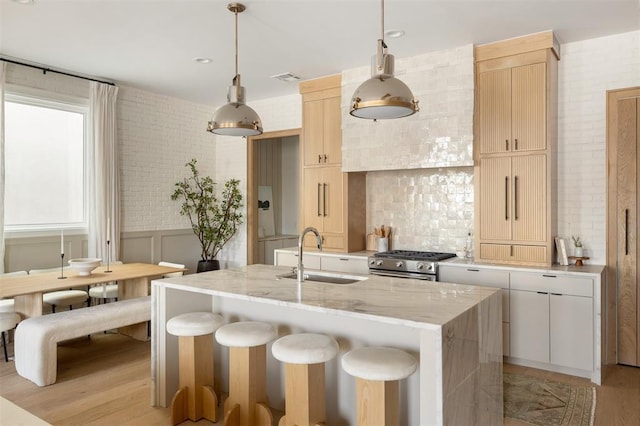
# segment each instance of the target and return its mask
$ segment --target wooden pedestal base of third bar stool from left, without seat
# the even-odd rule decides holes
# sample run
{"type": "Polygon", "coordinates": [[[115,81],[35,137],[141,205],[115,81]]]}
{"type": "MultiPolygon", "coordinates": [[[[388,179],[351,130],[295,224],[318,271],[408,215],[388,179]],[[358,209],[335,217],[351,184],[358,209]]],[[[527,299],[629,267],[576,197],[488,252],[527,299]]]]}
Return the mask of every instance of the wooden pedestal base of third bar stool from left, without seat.
{"type": "Polygon", "coordinates": [[[324,363],[285,364],[285,415],[280,426],[313,426],[326,421],[324,363]]]}

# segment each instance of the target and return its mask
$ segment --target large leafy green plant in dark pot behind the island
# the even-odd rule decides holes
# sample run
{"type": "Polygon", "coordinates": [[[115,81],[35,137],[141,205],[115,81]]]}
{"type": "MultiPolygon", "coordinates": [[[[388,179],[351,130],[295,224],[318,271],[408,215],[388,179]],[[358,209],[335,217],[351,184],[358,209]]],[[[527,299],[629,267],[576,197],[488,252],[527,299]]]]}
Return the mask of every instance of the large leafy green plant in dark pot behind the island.
{"type": "Polygon", "coordinates": [[[240,181],[227,180],[218,197],[216,182],[210,176],[200,176],[196,159],[185,167],[191,175],[176,182],[171,199],[182,202],[180,214],[189,218],[191,229],[200,241],[202,259],[198,262],[198,272],[220,269],[218,253],[235,235],[243,219],[240,181]]]}

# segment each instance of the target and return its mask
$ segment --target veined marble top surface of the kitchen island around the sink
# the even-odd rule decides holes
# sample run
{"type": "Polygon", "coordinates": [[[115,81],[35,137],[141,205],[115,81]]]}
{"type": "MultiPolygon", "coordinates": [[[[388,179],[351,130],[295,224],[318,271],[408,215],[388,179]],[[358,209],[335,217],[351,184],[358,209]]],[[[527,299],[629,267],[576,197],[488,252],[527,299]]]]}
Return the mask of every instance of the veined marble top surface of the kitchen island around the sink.
{"type": "MultiPolygon", "coordinates": [[[[289,267],[249,265],[237,269],[154,280],[153,286],[251,300],[419,328],[439,328],[500,289],[365,275],[353,284],[278,278],[289,267]]],[[[311,270],[307,270],[311,272],[311,270]]]]}

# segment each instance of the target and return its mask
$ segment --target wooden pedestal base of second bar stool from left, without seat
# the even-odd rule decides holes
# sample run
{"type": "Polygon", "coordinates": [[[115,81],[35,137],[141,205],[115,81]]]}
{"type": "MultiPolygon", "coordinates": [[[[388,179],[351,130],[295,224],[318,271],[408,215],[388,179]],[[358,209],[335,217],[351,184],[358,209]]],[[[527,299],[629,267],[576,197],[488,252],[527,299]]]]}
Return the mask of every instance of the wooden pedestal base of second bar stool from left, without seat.
{"type": "Polygon", "coordinates": [[[273,417],[267,399],[266,350],[266,345],[229,348],[229,397],[224,402],[225,418],[228,417],[229,421],[235,418],[229,413],[236,409],[241,426],[265,424],[265,417],[268,417],[266,424],[271,425],[273,417]]]}

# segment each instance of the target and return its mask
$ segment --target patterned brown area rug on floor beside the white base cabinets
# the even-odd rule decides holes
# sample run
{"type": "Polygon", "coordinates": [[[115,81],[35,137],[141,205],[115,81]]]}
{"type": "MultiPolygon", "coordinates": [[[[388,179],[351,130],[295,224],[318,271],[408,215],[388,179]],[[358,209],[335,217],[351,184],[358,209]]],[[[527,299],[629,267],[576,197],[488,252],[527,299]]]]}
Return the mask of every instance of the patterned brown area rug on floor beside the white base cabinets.
{"type": "Polygon", "coordinates": [[[593,426],[594,387],[512,373],[503,379],[505,417],[539,426],[593,426]]]}

